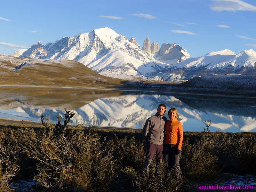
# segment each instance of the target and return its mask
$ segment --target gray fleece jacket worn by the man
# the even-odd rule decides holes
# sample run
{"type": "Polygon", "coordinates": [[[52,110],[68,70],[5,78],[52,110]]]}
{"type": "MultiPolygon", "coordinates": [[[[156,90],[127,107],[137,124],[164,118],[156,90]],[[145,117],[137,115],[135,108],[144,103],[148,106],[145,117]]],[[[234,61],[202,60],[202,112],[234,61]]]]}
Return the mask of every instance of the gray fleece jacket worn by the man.
{"type": "Polygon", "coordinates": [[[144,137],[148,137],[149,143],[163,145],[166,121],[167,118],[159,115],[158,113],[156,113],[156,115],[154,116],[149,117],[146,120],[146,123],[142,130],[142,134],[144,137]]]}

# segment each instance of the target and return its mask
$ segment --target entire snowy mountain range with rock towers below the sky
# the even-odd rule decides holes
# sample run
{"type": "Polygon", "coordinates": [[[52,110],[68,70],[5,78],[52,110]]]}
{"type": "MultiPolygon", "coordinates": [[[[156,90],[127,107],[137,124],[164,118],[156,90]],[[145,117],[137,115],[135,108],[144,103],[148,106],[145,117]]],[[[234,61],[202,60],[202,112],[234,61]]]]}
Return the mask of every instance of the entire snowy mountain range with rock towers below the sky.
{"type": "Polygon", "coordinates": [[[210,52],[191,58],[180,45],[150,45],[149,37],[143,47],[132,37],[117,34],[105,27],[74,37],[62,37],[54,43],[33,44],[28,50],[17,50],[13,56],[52,60],[75,60],[95,72],[110,77],[129,79],[131,76],[154,80],[188,80],[212,74],[256,74],[256,52],[231,50],[210,52]]]}

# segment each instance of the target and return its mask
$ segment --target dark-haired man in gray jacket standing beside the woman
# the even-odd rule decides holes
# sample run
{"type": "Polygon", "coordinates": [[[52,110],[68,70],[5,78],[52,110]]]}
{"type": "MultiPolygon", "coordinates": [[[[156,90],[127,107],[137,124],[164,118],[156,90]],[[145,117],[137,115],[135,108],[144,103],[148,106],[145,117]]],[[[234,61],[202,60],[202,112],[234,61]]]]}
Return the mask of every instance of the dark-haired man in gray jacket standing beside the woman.
{"type": "Polygon", "coordinates": [[[164,129],[165,121],[167,121],[167,118],[163,116],[165,111],[166,106],[164,104],[160,104],[157,108],[156,115],[151,116],[146,120],[142,130],[142,134],[147,143],[146,160],[143,167],[143,173],[145,175],[149,174],[149,166],[155,154],[156,173],[163,162],[164,129]]]}

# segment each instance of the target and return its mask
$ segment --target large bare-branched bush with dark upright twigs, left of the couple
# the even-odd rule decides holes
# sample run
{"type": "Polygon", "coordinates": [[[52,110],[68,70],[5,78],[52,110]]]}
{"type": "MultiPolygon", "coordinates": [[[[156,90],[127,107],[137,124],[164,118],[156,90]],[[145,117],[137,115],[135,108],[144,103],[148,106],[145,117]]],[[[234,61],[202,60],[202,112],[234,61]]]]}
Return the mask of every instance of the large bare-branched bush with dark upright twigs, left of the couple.
{"type": "Polygon", "coordinates": [[[54,128],[42,116],[45,128],[39,132],[24,128],[18,139],[20,150],[37,160],[35,180],[49,191],[105,190],[115,176],[112,158],[118,145],[100,141],[92,130],[66,129],[72,116],[66,111],[64,124],[58,118],[54,128]]]}

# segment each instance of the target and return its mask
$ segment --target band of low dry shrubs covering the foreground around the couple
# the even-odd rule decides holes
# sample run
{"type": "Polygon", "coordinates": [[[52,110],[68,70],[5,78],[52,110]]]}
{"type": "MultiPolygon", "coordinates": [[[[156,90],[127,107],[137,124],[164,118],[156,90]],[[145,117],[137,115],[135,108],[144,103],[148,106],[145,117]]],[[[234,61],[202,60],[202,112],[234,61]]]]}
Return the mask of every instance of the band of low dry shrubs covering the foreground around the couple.
{"type": "Polygon", "coordinates": [[[140,132],[93,131],[68,128],[73,113],[66,111],[64,124],[53,126],[42,116],[44,127],[21,124],[0,129],[0,191],[9,191],[14,175],[35,175],[44,191],[184,191],[186,180],[206,181],[219,172],[255,174],[256,133],[184,132],[180,167],[182,182],[165,164],[155,175],[142,168],[146,148],[140,132]],[[21,170],[19,172],[19,170],[21,170]],[[29,170],[29,173],[28,173],[29,170]]]}

